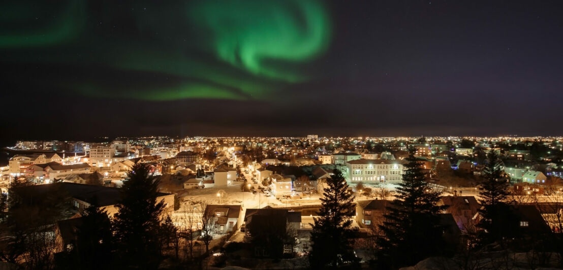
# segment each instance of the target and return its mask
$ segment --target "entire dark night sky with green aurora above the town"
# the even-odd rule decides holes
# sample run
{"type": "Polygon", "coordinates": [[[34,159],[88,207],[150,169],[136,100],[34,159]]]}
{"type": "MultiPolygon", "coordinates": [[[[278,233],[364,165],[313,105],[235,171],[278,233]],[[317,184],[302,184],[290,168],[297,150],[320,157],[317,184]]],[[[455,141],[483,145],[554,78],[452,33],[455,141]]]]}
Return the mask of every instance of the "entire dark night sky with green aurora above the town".
{"type": "Polygon", "coordinates": [[[0,3],[2,142],[561,135],[560,1],[0,3]]]}

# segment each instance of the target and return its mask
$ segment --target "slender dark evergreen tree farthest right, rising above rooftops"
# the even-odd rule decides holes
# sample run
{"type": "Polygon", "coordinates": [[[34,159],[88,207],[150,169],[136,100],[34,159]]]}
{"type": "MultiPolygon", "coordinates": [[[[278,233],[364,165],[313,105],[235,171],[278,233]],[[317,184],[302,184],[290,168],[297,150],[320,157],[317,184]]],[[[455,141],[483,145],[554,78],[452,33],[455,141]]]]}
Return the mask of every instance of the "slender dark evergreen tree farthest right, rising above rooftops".
{"type": "Polygon", "coordinates": [[[507,231],[504,231],[506,215],[510,212],[505,203],[508,196],[508,181],[503,177],[501,160],[497,152],[490,150],[487,154],[488,162],[485,164],[484,178],[481,184],[479,203],[483,206],[479,210],[481,220],[479,227],[484,229],[480,240],[484,243],[501,239],[507,231]]]}

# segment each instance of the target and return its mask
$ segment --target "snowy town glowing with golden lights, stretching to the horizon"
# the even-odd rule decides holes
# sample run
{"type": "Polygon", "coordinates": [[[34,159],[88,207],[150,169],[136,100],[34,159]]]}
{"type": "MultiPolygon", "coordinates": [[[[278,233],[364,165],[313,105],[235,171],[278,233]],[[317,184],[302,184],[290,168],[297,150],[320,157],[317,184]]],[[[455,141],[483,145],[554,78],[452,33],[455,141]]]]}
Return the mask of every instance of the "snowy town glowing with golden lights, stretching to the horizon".
{"type": "MultiPolygon", "coordinates": [[[[464,235],[479,224],[480,194],[490,152],[498,156],[501,176],[510,184],[507,202],[522,205],[512,209],[520,217],[517,225],[526,229],[522,233],[560,233],[561,219],[553,209],[563,199],[562,140],[309,135],[17,141],[15,146],[5,148],[11,158],[1,168],[2,191],[7,192],[14,179],[25,179],[34,187],[61,185],[74,206],[72,213],[81,213],[99,200],[105,204],[98,207],[113,218],[119,201],[113,191],[128,181],[136,166],[146,166],[158,182],[157,200],[164,202],[163,213],[178,232],[194,234],[193,239],[182,241],[184,245],[193,241],[190,256],[208,252],[211,258],[231,258],[225,243],[236,242],[251,244],[240,248],[248,249],[248,254],[243,254],[250,257],[301,258],[292,262],[305,267],[303,258],[311,249],[310,233],[314,219],[319,218],[321,198],[330,188],[328,182],[335,170],[339,170],[346,192],[353,196],[350,227],[358,233],[354,254],[365,263],[374,256],[374,246],[367,239],[383,224],[386,205],[397,199],[410,154],[428,188],[440,192],[437,203],[447,206],[440,215],[450,226],[444,232],[448,240],[463,241],[464,235]],[[211,224],[207,224],[212,229],[203,225],[205,215],[212,216],[211,224]],[[282,227],[287,224],[292,229],[286,233],[294,241],[280,242],[279,254],[270,253],[271,244],[263,246],[253,240],[252,230],[257,229],[249,223],[256,219],[254,216],[262,215],[281,215],[282,227]],[[202,241],[206,234],[209,241],[202,241]]],[[[56,226],[65,222],[57,221],[56,226]]],[[[73,245],[72,238],[60,237],[57,250],[73,245]]]]}

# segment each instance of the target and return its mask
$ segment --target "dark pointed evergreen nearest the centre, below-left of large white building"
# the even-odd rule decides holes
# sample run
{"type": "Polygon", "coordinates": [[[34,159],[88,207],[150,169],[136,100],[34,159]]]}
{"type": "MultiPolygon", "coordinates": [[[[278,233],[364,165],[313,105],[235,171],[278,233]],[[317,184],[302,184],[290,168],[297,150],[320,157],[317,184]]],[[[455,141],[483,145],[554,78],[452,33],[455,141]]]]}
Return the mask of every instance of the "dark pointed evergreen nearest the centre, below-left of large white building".
{"type": "Polygon", "coordinates": [[[356,262],[352,244],[356,230],[352,230],[354,196],[348,192],[348,184],[338,170],[327,179],[319,218],[314,218],[311,232],[309,262],[313,269],[337,267],[345,262],[356,262]]]}

